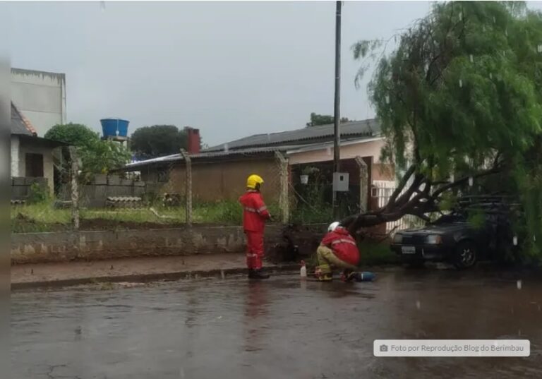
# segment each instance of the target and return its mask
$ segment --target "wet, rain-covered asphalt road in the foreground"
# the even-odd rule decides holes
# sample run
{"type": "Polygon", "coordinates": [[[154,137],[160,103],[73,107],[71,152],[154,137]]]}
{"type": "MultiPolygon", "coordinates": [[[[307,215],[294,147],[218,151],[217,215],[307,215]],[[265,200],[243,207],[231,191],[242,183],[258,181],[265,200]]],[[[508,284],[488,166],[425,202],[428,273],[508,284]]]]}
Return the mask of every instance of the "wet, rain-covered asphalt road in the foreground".
{"type": "Polygon", "coordinates": [[[12,294],[13,378],[542,378],[542,280],[382,272],[12,294]],[[520,288],[519,288],[520,287],[520,288]],[[375,358],[373,339],[531,339],[529,358],[375,358]]]}

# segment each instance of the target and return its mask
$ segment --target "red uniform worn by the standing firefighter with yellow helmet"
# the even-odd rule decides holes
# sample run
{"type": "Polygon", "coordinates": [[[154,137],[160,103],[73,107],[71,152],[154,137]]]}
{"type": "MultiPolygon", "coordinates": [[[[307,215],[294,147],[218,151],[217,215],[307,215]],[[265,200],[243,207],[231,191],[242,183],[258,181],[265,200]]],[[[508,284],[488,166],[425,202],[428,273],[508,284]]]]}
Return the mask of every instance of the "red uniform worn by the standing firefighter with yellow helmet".
{"type": "Polygon", "coordinates": [[[239,198],[243,205],[243,229],[246,234],[246,265],[251,270],[262,268],[263,231],[271,215],[258,191],[248,190],[239,198]]]}

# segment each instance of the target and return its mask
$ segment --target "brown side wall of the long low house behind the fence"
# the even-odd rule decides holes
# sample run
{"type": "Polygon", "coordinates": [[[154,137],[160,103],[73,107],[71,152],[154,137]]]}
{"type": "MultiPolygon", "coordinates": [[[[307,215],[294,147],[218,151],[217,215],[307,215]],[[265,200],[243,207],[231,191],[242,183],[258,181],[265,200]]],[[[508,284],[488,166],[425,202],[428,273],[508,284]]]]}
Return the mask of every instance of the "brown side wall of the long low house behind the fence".
{"type": "MultiPolygon", "coordinates": [[[[251,157],[246,160],[193,162],[192,194],[194,201],[237,200],[246,191],[246,178],[251,174],[263,177],[262,194],[268,202],[279,200],[279,167],[273,157],[251,157]]],[[[157,169],[143,169],[141,179],[156,182],[157,169]]],[[[161,192],[184,195],[186,169],[183,163],[169,170],[169,181],[161,186],[161,192]]]]}

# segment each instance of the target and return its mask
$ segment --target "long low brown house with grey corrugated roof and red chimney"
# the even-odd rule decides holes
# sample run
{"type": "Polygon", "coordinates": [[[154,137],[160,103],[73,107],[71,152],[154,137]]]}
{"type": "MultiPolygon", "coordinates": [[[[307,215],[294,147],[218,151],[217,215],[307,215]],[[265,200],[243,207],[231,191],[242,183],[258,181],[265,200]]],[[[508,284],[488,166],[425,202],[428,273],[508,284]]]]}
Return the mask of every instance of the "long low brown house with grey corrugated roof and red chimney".
{"type": "MultiPolygon", "coordinates": [[[[358,186],[352,193],[359,199],[359,166],[361,158],[368,167],[368,189],[374,181],[395,181],[392,165],[380,162],[380,150],[385,139],[374,119],[341,124],[342,171],[349,172],[350,183],[358,186]]],[[[320,167],[330,171],[333,161],[333,125],[311,126],[282,133],[257,134],[239,140],[199,150],[197,129],[187,128],[192,141],[188,154],[192,165],[192,191],[195,201],[236,200],[245,190],[246,177],[259,174],[265,180],[263,195],[278,200],[280,169],[277,153],[289,164],[289,183],[299,184],[303,168],[320,167]]],[[[185,167],[181,154],[133,162],[124,167],[127,172],[140,172],[141,179],[156,183],[159,191],[184,193],[185,167]]],[[[358,200],[359,201],[359,200],[358,200]]]]}

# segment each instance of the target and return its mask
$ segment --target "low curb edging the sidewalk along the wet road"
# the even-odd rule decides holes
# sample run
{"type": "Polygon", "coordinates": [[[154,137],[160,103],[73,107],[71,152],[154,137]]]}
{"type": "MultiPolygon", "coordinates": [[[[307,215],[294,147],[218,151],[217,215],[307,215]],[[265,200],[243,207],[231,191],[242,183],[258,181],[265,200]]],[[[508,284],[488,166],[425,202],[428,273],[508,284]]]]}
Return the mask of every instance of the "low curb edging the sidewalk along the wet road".
{"type": "MultiPolygon", "coordinates": [[[[299,265],[280,265],[266,267],[267,272],[292,272],[299,270],[299,265]]],[[[203,277],[222,277],[222,275],[245,275],[246,268],[227,268],[214,270],[196,270],[196,271],[177,271],[160,272],[153,274],[135,274],[135,275],[111,275],[103,277],[80,277],[74,279],[45,280],[38,282],[19,282],[11,283],[11,290],[16,289],[34,289],[41,287],[71,287],[83,284],[97,283],[119,283],[119,282],[172,282],[180,279],[198,279],[203,277]]]]}

